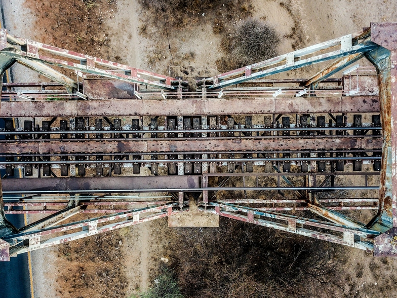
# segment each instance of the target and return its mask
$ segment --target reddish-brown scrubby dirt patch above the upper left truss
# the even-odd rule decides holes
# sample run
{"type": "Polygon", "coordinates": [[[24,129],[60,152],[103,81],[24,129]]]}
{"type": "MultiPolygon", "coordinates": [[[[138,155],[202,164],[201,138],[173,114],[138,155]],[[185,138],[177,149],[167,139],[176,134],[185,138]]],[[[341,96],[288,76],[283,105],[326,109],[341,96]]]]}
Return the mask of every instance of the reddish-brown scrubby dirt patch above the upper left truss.
{"type": "Polygon", "coordinates": [[[26,0],[25,5],[36,16],[41,42],[109,58],[106,19],[116,12],[116,0],[26,0]]]}

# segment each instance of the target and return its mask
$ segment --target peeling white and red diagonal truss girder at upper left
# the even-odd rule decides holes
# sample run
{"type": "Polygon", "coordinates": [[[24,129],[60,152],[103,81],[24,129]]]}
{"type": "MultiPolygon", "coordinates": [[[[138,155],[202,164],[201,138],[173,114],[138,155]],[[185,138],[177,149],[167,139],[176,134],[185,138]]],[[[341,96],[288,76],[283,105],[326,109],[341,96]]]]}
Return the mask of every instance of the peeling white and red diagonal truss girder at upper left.
{"type": "MultiPolygon", "coordinates": [[[[105,78],[138,83],[165,90],[178,89],[178,86],[173,86],[172,84],[178,82],[178,80],[175,78],[163,76],[162,74],[131,67],[117,62],[107,61],[101,58],[76,53],[51,45],[46,45],[27,39],[21,39],[8,34],[6,29],[0,29],[0,53],[8,57],[15,58],[18,60],[18,62],[21,62],[22,64],[24,63],[26,66],[38,71],[44,68],[40,64],[45,63],[71,70],[82,71],[88,74],[95,74],[105,78]],[[20,47],[20,49],[17,47],[20,47]],[[55,55],[61,57],[61,59],[41,55],[39,52],[48,53],[52,56],[55,55]],[[64,60],[63,58],[67,58],[68,60],[64,60]],[[27,60],[30,60],[30,63],[28,63],[27,60]],[[74,62],[70,60],[74,60],[74,62]],[[99,68],[99,66],[106,67],[106,69],[99,68]],[[142,77],[146,77],[148,79],[142,77]],[[158,82],[153,81],[153,79],[158,80],[158,82]]],[[[49,72],[51,73],[55,71],[56,70],[52,69],[52,71],[49,72]]]]}

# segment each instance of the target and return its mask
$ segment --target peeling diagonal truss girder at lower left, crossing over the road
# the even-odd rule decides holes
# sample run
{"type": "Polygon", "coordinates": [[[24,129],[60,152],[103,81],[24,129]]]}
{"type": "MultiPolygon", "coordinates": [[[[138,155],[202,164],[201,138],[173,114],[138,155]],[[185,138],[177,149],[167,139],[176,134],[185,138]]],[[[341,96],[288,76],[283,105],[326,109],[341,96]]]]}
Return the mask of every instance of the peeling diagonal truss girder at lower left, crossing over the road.
{"type": "MultiPolygon", "coordinates": [[[[31,230],[31,227],[26,226],[26,229],[22,228],[18,233],[2,237],[2,241],[0,241],[0,260],[8,260],[7,256],[15,256],[18,253],[49,247],[128,226],[137,225],[141,222],[166,217],[172,213],[172,207],[177,205],[177,203],[155,205],[151,207],[133,209],[125,212],[70,222],[68,224],[54,227],[46,227],[42,229],[40,229],[41,227],[38,227],[38,230],[31,230]],[[112,221],[112,223],[101,225],[102,223],[109,221],[112,221]],[[59,235],[60,232],[68,232],[74,229],[81,230],[62,236],[55,236],[59,235]],[[28,242],[27,245],[24,244],[26,242],[28,242]],[[8,251],[6,251],[7,247],[9,249],[8,251]],[[2,250],[2,248],[4,249],[2,250]]],[[[69,213],[68,215],[70,216],[78,213],[77,207],[66,209],[63,211],[77,211],[73,214],[69,213]]],[[[55,218],[56,216],[54,219],[55,218]]],[[[44,222],[42,222],[42,224],[43,223],[44,222]]]]}

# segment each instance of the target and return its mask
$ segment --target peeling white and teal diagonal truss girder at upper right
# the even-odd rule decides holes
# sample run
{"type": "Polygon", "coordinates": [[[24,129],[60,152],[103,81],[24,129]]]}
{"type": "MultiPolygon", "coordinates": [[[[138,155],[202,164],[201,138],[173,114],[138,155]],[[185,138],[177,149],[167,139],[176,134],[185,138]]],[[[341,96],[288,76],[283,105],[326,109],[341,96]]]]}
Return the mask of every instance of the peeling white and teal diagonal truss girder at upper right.
{"type": "Polygon", "coordinates": [[[364,32],[348,34],[331,41],[309,46],[262,62],[221,73],[215,77],[198,81],[197,88],[206,87],[208,90],[220,89],[250,80],[260,79],[270,76],[271,74],[297,69],[331,59],[342,58],[340,61],[335,62],[333,66],[330,66],[328,70],[323,69],[324,75],[317,73],[311,78],[311,80],[315,81],[317,79],[320,80],[323,76],[325,78],[328,77],[325,76],[328,72],[331,72],[329,74],[330,76],[334,73],[334,69],[340,70],[348,64],[358,60],[362,57],[361,53],[378,48],[379,45],[368,40],[369,34],[370,31],[368,29],[364,32]],[[340,49],[334,50],[338,46],[340,49]],[[333,50],[332,52],[323,53],[324,50],[331,49],[333,50]],[[313,54],[317,55],[312,56],[313,54]],[[351,57],[344,59],[346,56],[351,57]],[[349,61],[349,59],[351,61],[349,61]]]}

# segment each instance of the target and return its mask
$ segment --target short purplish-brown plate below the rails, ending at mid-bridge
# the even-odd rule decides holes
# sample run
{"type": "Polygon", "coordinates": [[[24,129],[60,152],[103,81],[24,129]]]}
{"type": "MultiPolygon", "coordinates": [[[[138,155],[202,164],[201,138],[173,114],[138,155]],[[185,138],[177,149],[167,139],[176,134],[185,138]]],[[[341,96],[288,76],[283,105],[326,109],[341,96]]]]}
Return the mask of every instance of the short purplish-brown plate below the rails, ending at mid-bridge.
{"type": "Polygon", "coordinates": [[[4,193],[89,192],[98,190],[126,192],[127,190],[196,189],[198,176],[135,176],[135,177],[69,177],[69,178],[11,178],[3,180],[4,193]]]}

